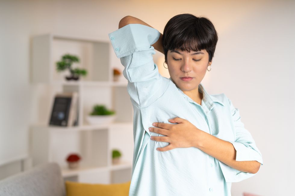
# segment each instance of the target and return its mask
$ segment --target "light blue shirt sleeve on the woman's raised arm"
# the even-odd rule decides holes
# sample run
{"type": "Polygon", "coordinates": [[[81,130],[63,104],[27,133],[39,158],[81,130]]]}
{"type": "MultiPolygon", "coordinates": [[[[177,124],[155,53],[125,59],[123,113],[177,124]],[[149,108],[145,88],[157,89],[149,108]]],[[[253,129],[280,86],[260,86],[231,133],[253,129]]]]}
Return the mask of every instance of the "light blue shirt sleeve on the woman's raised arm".
{"type": "Polygon", "coordinates": [[[160,37],[157,29],[141,24],[128,24],[109,33],[116,56],[125,67],[127,91],[139,108],[156,101],[168,87],[169,79],[162,77],[154,63],[154,44],[160,37]]]}

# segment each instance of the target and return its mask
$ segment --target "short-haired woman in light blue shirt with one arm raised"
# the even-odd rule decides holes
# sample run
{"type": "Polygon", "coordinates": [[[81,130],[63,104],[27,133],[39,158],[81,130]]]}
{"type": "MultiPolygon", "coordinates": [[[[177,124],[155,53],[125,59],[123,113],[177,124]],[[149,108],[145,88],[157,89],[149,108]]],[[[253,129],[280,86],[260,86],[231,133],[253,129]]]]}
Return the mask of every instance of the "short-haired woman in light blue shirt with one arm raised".
{"type": "Polygon", "coordinates": [[[129,195],[231,195],[231,182],[257,173],[262,156],[239,110],[200,83],[218,40],[210,20],[179,14],[162,35],[126,16],[109,38],[134,109],[129,195]],[[165,55],[169,79],[159,74],[154,49],[165,55]]]}

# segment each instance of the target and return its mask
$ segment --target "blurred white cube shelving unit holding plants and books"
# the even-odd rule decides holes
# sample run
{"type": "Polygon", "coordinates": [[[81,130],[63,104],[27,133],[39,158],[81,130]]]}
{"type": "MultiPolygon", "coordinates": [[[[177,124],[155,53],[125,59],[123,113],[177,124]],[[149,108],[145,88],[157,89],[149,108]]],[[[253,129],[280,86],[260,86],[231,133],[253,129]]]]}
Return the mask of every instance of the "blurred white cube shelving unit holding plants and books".
{"type": "MultiPolygon", "coordinates": [[[[78,126],[59,127],[38,123],[31,126],[33,166],[57,162],[64,179],[78,182],[108,184],[131,180],[133,107],[126,89],[127,80],[113,81],[110,52],[113,52],[110,43],[98,39],[53,34],[33,37],[31,82],[57,86],[62,92],[76,91],[79,95],[78,126]],[[80,63],[77,65],[87,69],[87,77],[80,77],[79,81],[66,81],[64,77],[69,73],[55,71],[55,62],[66,53],[79,56],[80,63]],[[115,121],[89,125],[85,116],[95,104],[104,104],[115,110],[115,121]],[[114,148],[123,154],[121,163],[116,165],[112,164],[111,156],[114,148]],[[76,170],[68,169],[65,161],[72,152],[82,156],[76,170]]],[[[48,103],[52,106],[54,95],[48,96],[52,97],[51,103],[48,103]]],[[[51,113],[51,110],[46,112],[51,113]]]]}

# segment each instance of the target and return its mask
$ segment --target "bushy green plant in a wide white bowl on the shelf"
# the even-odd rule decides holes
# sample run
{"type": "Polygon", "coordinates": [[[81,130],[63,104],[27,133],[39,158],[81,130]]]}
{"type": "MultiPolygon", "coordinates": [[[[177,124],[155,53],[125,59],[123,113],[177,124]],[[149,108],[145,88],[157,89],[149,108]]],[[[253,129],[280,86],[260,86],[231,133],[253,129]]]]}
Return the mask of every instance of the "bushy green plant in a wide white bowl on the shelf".
{"type": "Polygon", "coordinates": [[[98,125],[113,122],[115,117],[115,111],[108,110],[105,105],[95,105],[92,112],[87,116],[87,121],[91,125],[98,125]]]}

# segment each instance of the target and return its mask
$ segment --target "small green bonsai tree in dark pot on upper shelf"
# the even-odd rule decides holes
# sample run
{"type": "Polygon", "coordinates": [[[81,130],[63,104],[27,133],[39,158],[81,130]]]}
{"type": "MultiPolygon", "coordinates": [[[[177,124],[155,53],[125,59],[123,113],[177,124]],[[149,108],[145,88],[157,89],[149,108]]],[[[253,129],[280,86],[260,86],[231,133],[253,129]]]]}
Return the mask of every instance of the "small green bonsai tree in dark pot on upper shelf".
{"type": "Polygon", "coordinates": [[[65,54],[61,57],[61,61],[56,62],[56,69],[58,72],[69,70],[71,75],[66,76],[67,80],[79,80],[79,76],[86,76],[87,71],[85,69],[72,68],[73,62],[79,62],[79,58],[74,55],[65,54]]]}

